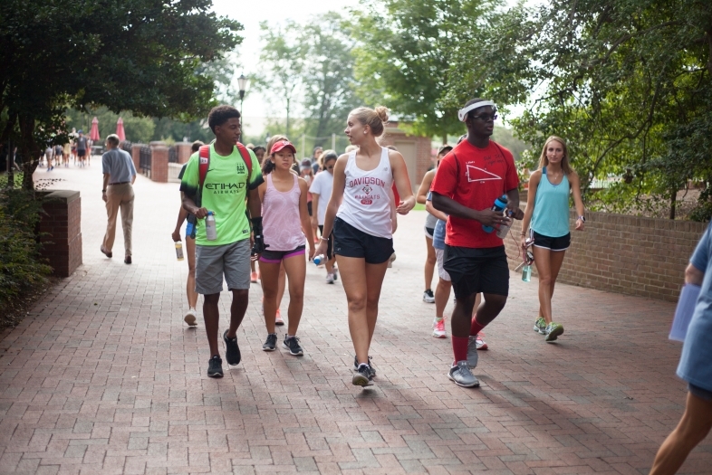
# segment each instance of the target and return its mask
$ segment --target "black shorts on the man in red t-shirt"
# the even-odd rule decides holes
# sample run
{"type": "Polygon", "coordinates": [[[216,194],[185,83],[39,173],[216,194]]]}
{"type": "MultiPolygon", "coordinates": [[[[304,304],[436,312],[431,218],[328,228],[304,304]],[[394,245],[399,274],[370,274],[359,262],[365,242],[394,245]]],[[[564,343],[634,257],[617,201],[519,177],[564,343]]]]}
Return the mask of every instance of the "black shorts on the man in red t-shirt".
{"type": "Polygon", "coordinates": [[[505,246],[476,249],[446,244],[443,267],[450,274],[457,299],[480,292],[509,295],[505,246]]]}

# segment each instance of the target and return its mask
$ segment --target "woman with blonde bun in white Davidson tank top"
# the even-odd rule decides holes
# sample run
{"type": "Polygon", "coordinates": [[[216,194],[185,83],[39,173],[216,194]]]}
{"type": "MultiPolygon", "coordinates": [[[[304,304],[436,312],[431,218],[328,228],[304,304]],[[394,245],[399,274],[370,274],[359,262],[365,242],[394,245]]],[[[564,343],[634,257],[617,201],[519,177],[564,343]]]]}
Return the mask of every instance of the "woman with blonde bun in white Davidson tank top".
{"type": "MultiPolygon", "coordinates": [[[[376,142],[388,120],[388,109],[351,110],[345,133],[358,150],[336,160],[332,197],[324,216],[323,236],[332,233],[334,253],[349,302],[349,331],[356,350],[351,383],[371,385],[376,375],[369,348],[379,312],[380,288],[393,253],[390,190],[398,187],[399,214],[415,205],[408,169],[399,152],[376,142]]],[[[326,252],[322,237],[317,254],[326,252]]]]}

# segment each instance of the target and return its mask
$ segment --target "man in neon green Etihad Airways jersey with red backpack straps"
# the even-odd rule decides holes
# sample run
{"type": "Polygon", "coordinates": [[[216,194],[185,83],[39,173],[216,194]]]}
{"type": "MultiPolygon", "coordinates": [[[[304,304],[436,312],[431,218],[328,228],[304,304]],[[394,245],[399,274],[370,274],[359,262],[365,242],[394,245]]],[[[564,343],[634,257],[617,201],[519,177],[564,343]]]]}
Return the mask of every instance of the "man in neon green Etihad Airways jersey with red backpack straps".
{"type": "Polygon", "coordinates": [[[200,190],[199,152],[188,160],[180,182],[184,193],[183,207],[197,218],[196,223],[196,291],[203,294],[203,318],[206,323],[210,362],[207,375],[222,377],[223,367],[217,349],[220,314],[217,302],[223,290],[223,276],[233,293],[230,307],[230,328],[225,330],[225,357],[228,365],[240,363],[240,348],[236,332],[245,317],[250,288],[250,222],[245,213],[245,198],[255,232],[252,253],[265,250],[262,238],[262,205],[257,186],[264,180],[257,157],[250,150],[252,173],[236,147],[242,126],[240,113],[231,106],[219,106],[210,111],[207,123],[216,136],[210,145],[210,161],[200,190]],[[200,206],[196,196],[200,195],[200,206]],[[216,240],[207,240],[205,218],[215,214],[216,240]]]}

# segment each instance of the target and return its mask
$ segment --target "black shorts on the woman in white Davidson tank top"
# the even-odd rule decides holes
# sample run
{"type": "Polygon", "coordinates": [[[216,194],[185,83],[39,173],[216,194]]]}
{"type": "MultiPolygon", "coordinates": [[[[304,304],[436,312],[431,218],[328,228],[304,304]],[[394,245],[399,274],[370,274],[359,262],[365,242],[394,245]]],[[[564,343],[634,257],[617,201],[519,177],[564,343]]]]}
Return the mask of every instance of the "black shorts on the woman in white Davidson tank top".
{"type": "Polygon", "coordinates": [[[336,218],[333,223],[334,253],[343,257],[365,259],[367,264],[381,264],[393,254],[393,240],[364,233],[336,218]]]}

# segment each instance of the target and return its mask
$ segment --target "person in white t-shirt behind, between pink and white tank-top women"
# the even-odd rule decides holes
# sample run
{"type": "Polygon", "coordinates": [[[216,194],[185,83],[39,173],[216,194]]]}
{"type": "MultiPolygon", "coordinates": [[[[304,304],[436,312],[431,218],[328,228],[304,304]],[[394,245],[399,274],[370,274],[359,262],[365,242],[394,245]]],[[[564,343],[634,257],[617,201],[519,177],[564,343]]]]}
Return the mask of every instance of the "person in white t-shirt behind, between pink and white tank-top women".
{"type": "MultiPolygon", "coordinates": [[[[333,150],[326,150],[322,153],[322,171],[314,176],[312,186],[309,191],[312,193],[312,203],[314,212],[312,214],[312,225],[319,226],[319,233],[324,237],[324,215],[326,214],[326,206],[332,198],[333,189],[333,166],[336,164],[336,159],[339,158],[333,150]]],[[[324,267],[326,267],[326,283],[332,284],[339,279],[339,270],[334,267],[336,259],[333,255],[333,233],[326,236],[327,246],[324,257],[324,267]]]]}

